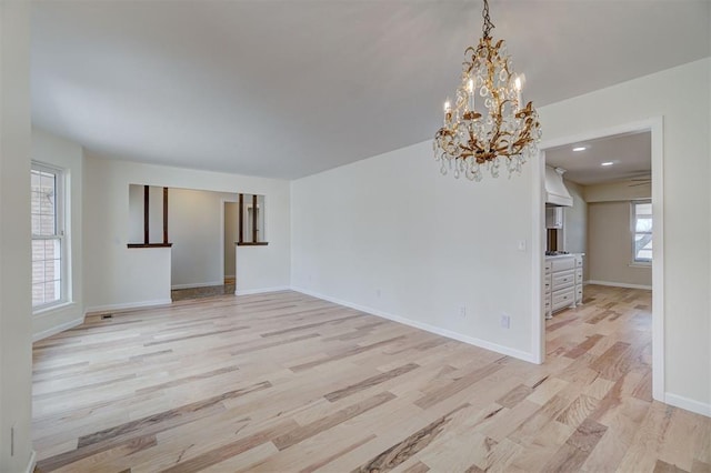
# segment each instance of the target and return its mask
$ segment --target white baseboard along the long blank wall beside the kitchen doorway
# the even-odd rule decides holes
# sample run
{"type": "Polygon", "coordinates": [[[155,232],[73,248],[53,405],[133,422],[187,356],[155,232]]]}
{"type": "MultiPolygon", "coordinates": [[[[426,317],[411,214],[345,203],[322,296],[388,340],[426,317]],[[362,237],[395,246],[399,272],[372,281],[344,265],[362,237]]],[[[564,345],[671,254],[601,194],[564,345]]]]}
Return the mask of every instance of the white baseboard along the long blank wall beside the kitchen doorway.
{"type": "Polygon", "coordinates": [[[491,343],[485,340],[477,339],[473,336],[462,335],[461,333],[452,332],[451,330],[442,329],[439,326],[430,325],[429,323],[418,322],[414,320],[405,319],[400,315],[394,315],[388,312],[383,312],[373,308],[368,308],[360,304],[354,304],[349,301],[342,301],[337,298],[331,298],[324,294],[319,294],[313,291],[306,290],[303,288],[291,288],[292,291],[301,292],[313,298],[323,299],[324,301],[333,302],[334,304],[343,305],[347,308],[356,309],[357,311],[365,312],[372,315],[377,315],[383,319],[391,320],[393,322],[401,323],[403,325],[412,326],[414,329],[424,330],[425,332],[434,333],[437,335],[445,336],[448,339],[457,340],[470,345],[478,346],[480,349],[490,350],[492,352],[501,353],[508,356],[513,356],[519,360],[528,361],[529,363],[535,363],[535,356],[533,353],[523,352],[520,350],[511,349],[509,346],[491,343]]]}

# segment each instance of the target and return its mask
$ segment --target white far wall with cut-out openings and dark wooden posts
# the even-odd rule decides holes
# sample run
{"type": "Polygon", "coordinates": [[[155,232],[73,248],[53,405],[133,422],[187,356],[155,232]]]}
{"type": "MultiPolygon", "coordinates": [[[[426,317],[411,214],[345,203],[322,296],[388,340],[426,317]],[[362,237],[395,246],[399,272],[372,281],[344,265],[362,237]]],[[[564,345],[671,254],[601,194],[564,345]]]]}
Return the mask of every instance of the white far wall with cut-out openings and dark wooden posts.
{"type": "Polygon", "coordinates": [[[254,292],[289,285],[288,181],[106,160],[89,153],[83,200],[86,311],[170,301],[171,250],[127,248],[129,184],[136,183],[267,195],[270,242],[250,249],[256,251],[238,268],[238,290],[254,292]]]}

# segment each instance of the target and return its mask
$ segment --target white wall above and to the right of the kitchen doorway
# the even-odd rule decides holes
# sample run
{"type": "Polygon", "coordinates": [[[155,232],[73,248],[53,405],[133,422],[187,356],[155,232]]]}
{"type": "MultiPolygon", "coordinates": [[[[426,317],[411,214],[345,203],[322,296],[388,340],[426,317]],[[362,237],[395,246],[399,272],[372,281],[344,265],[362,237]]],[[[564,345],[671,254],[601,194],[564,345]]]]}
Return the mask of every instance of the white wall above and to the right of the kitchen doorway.
{"type": "Polygon", "coordinates": [[[710,69],[707,58],[540,109],[545,140],[663,115],[665,399],[708,414],[710,69]]]}

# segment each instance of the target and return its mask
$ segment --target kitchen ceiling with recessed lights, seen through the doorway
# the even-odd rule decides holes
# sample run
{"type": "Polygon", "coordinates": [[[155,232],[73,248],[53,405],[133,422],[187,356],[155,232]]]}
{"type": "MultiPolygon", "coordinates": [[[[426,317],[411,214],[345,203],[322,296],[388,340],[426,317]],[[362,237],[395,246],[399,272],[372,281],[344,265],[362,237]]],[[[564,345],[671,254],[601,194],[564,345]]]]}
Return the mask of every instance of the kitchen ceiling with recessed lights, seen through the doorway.
{"type": "Polygon", "coordinates": [[[545,150],[545,164],[564,169],[567,180],[582,185],[649,179],[652,137],[650,132],[627,133],[550,148],[545,150]],[[577,147],[585,150],[573,151],[577,147]]]}

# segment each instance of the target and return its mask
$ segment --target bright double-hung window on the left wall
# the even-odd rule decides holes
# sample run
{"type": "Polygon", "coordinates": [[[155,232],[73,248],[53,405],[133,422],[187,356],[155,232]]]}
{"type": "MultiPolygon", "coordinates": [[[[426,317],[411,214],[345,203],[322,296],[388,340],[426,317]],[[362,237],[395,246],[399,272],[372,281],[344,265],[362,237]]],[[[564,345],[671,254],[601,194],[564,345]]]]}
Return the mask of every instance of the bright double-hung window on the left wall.
{"type": "Polygon", "coordinates": [[[32,163],[32,309],[67,300],[62,175],[32,163]]]}

